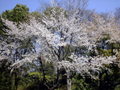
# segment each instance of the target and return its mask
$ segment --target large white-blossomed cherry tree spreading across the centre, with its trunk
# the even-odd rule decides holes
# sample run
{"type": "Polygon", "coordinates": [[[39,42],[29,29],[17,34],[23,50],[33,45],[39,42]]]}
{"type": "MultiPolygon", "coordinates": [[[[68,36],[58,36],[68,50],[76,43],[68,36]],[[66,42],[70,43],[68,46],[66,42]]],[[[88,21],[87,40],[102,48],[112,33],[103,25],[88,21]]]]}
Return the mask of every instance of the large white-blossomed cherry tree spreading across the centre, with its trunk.
{"type": "MultiPolygon", "coordinates": [[[[87,73],[96,79],[97,77],[94,77],[89,70],[100,71],[101,67],[105,68],[104,64],[110,64],[116,59],[116,56],[102,57],[97,55],[90,57],[82,54],[76,55],[75,51],[72,51],[72,48],[76,49],[77,47],[81,48],[84,46],[89,52],[93,46],[96,47],[96,42],[103,37],[104,32],[110,35],[111,42],[118,40],[119,33],[115,33],[115,36],[113,35],[114,30],[117,30],[117,25],[113,21],[114,18],[105,21],[102,17],[94,13],[92,21],[89,21],[89,23],[86,21],[81,22],[82,17],[78,15],[79,11],[76,10],[73,15],[65,17],[65,10],[60,8],[56,11],[55,7],[53,6],[50,17],[43,17],[42,23],[30,17],[29,24],[20,23],[18,27],[15,23],[2,19],[5,25],[10,28],[10,30],[6,30],[7,34],[13,35],[13,39],[27,40],[28,38],[35,37],[34,40],[39,46],[36,48],[36,52],[22,55],[22,58],[12,64],[11,67],[12,69],[15,67],[19,68],[24,63],[32,63],[38,59],[44,59],[49,63],[54,62],[57,80],[51,89],[58,86],[60,70],[64,68],[67,76],[67,90],[71,90],[73,72],[80,73],[83,76],[84,73],[87,73]],[[58,15],[57,12],[60,12],[60,14],[58,15]]],[[[14,48],[19,47],[20,45],[16,43],[14,42],[14,45],[11,45],[14,48]]],[[[36,44],[34,44],[34,47],[36,47],[36,44]]],[[[6,52],[8,53],[8,51],[6,52]]],[[[2,53],[4,55],[4,52],[2,53]]],[[[4,57],[2,56],[2,58],[4,57]]],[[[47,84],[46,86],[50,89],[47,84]]]]}

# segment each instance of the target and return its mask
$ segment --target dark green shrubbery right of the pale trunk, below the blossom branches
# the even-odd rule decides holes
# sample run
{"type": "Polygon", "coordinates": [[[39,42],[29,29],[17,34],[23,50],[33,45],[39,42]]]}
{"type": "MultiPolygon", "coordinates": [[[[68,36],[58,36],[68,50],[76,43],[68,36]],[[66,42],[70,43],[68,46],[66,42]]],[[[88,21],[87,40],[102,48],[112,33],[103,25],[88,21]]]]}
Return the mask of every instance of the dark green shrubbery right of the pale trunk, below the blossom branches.
{"type": "Polygon", "coordinates": [[[107,65],[111,71],[101,69],[95,74],[99,79],[92,79],[87,74],[83,78],[80,74],[72,79],[72,90],[119,90],[120,68],[117,64],[107,65]]]}

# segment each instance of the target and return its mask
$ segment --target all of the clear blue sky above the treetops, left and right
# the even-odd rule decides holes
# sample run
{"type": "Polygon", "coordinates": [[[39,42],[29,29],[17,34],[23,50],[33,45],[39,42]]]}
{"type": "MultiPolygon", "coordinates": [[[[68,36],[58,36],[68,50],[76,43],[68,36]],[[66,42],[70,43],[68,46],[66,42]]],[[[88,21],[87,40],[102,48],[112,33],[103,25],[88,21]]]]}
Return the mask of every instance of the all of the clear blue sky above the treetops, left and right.
{"type": "MultiPolygon", "coordinates": [[[[41,0],[39,0],[41,1],[41,0]]],[[[43,0],[44,1],[44,0],[43,0]]],[[[50,2],[50,0],[46,0],[50,2]]],[[[30,12],[39,8],[38,0],[0,0],[0,14],[5,10],[11,10],[16,4],[25,4],[30,12]]],[[[120,7],[120,0],[89,0],[88,9],[95,9],[96,12],[110,12],[120,7]]]]}

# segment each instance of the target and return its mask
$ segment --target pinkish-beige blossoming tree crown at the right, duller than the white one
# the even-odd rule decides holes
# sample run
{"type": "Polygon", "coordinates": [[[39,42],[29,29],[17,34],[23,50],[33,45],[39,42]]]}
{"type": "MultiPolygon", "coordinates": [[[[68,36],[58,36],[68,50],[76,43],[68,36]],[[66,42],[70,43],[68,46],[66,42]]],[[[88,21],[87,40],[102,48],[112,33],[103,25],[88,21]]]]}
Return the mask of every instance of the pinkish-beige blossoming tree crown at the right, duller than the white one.
{"type": "Polygon", "coordinates": [[[120,41],[119,23],[116,22],[113,14],[108,14],[104,19],[99,14],[93,13],[91,18],[92,21],[88,23],[88,30],[94,34],[93,36],[97,37],[95,39],[99,40],[108,35],[110,38],[108,42],[115,43],[120,41]]]}

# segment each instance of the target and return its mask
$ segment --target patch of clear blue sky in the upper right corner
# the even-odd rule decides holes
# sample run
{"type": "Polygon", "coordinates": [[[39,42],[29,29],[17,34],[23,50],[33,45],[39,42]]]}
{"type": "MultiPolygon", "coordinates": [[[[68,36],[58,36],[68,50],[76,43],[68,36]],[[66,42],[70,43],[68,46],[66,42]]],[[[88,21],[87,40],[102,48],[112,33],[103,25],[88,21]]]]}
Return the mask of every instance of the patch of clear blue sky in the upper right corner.
{"type": "Polygon", "coordinates": [[[95,9],[96,12],[111,12],[120,7],[120,0],[89,0],[88,9],[95,9]]]}

